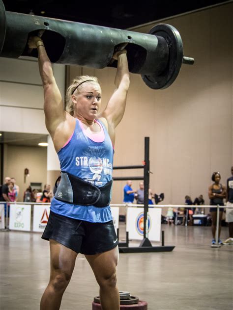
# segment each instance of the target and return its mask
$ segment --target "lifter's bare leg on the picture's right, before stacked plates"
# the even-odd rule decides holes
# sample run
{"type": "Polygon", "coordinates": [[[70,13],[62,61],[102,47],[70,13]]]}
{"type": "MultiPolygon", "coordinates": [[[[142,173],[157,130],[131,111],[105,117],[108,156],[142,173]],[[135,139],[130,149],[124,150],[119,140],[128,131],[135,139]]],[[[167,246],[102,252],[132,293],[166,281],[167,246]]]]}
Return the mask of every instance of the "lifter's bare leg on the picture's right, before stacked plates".
{"type": "Polygon", "coordinates": [[[118,247],[95,255],[85,255],[99,284],[100,302],[103,310],[119,310],[119,292],[117,288],[116,266],[118,247]]]}

